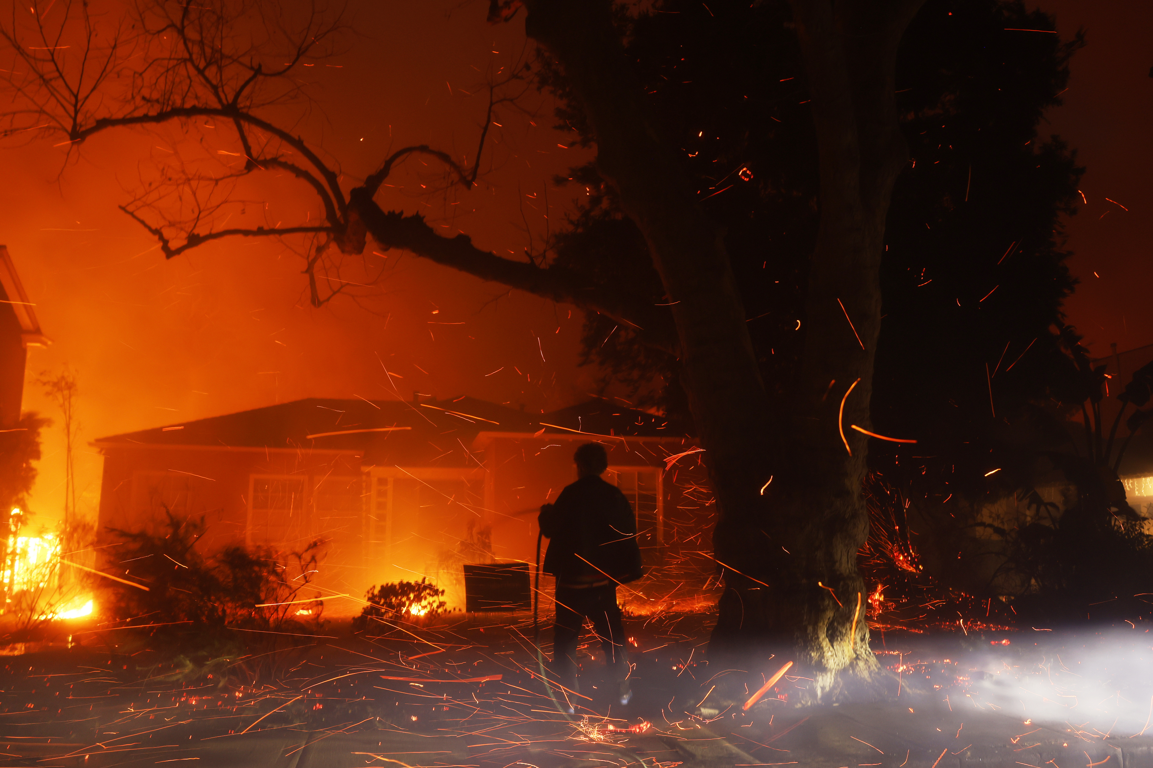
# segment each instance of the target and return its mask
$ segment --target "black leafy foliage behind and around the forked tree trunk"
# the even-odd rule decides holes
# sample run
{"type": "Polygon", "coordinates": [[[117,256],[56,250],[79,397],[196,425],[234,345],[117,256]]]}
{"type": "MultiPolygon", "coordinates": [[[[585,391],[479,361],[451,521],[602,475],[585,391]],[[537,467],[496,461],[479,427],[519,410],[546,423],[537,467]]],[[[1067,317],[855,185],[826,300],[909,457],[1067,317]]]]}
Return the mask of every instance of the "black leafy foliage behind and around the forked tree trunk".
{"type": "MultiPolygon", "coordinates": [[[[817,223],[815,137],[790,20],[785,2],[664,0],[630,29],[630,54],[662,129],[680,137],[701,204],[724,223],[762,375],[777,390],[804,341],[817,223]]],[[[892,481],[932,486],[941,497],[948,478],[927,485],[920,464],[914,478],[898,456],[936,454],[940,466],[956,463],[944,449],[987,454],[1000,417],[1045,391],[1060,355],[1049,327],[1073,286],[1060,216],[1079,200],[1080,169],[1038,124],[1060,104],[1082,41],[1005,28],[1053,29],[1053,21],[1020,2],[932,0],[905,35],[897,67],[914,162],[889,213],[873,418],[882,434],[921,442],[913,450],[874,441],[869,454],[892,481]],[[920,450],[925,443],[932,449],[920,450]]],[[[559,127],[590,143],[559,73],[547,66],[540,82],[562,98],[559,127]]],[[[628,284],[654,304],[666,301],[643,239],[595,166],[571,175],[588,196],[552,243],[556,263],[628,284]]],[[[688,418],[673,356],[604,315],[589,315],[582,342],[585,363],[602,370],[605,385],[688,418]]]]}

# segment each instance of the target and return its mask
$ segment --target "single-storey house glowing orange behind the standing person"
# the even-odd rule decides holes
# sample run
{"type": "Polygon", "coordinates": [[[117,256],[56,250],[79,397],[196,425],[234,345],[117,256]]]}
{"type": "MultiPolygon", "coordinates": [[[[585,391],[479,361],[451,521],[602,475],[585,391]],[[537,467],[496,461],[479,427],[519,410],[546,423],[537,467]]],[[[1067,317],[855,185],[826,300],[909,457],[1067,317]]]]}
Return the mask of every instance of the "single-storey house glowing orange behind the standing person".
{"type": "MultiPolygon", "coordinates": [[[[414,396],[300,400],[113,435],[93,443],[105,457],[100,545],[165,510],[204,516],[209,550],[242,542],[285,554],[322,539],[324,594],[428,578],[462,607],[465,563],[534,560],[536,514],[575,479],[582,442],[609,450],[608,477],[633,501],[648,557],[660,557],[666,511],[701,505],[665,481],[666,458],[693,448],[666,429],[608,401],[532,415],[414,396]]],[[[118,562],[115,547],[101,552],[118,562]]]]}

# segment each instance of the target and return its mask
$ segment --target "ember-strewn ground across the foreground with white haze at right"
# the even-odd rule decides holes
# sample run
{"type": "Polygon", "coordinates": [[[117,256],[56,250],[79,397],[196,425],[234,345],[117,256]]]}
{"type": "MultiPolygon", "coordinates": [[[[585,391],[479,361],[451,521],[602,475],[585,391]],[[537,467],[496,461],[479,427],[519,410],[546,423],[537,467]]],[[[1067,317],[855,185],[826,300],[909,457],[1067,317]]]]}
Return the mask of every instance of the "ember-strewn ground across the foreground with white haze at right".
{"type": "Polygon", "coordinates": [[[778,698],[800,682],[785,677],[746,712],[710,706],[718,679],[745,672],[709,667],[709,621],[632,618],[635,700],[615,706],[588,659],[587,698],[573,699],[571,716],[540,682],[525,616],[384,628],[371,638],[334,622],[327,637],[297,638],[263,660],[219,660],[184,683],[173,679],[171,655],[71,628],[73,647],[66,636],[12,647],[24,653],[0,664],[0,768],[1153,766],[1153,737],[1129,738],[1153,716],[1141,629],[890,633],[875,649],[906,683],[899,698],[799,709],[778,698]]]}

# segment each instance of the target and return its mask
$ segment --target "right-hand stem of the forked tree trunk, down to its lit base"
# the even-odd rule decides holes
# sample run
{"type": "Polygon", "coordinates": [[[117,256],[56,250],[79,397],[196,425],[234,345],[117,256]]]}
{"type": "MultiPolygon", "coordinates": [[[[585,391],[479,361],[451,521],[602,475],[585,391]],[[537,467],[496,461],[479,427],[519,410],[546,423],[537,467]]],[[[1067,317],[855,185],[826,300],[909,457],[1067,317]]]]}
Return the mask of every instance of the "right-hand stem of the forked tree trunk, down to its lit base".
{"type": "MultiPolygon", "coordinates": [[[[894,100],[896,54],[920,2],[864,5],[793,2],[820,152],[821,221],[801,365],[784,404],[787,438],[774,462],[774,547],[764,553],[776,561],[764,579],[771,588],[730,578],[714,633],[714,646],[749,630],[775,652],[791,646],[813,677],[806,700],[892,692],[868,645],[868,590],[857,564],[868,535],[868,439],[852,426],[871,427],[884,223],[907,162],[894,100]],[[759,628],[748,626],[751,614],[759,628]]],[[[756,563],[767,543],[748,533],[737,529],[717,545],[740,553],[732,555],[738,568],[756,563]]]]}

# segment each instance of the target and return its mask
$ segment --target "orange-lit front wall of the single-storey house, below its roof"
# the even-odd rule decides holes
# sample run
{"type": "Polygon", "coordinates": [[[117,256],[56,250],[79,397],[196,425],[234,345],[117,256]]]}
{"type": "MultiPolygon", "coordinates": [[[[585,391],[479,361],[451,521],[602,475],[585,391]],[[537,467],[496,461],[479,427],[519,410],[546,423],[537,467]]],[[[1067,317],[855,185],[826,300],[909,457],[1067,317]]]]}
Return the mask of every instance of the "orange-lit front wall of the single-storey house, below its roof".
{"type": "MultiPolygon", "coordinates": [[[[428,578],[446,591],[451,607],[464,608],[464,564],[535,561],[540,507],[576,479],[572,455],[586,440],[497,436],[472,448],[484,467],[364,471],[351,451],[105,447],[100,543],[115,540],[108,527],[155,527],[167,508],[205,517],[209,552],[236,542],[289,553],[324,539],[316,578],[329,594],[361,598],[372,585],[428,578]]],[[[616,470],[608,479],[639,512],[651,569],[651,588],[641,592],[660,598],[681,585],[673,602],[699,596],[685,585],[700,587],[715,571],[701,554],[710,552],[715,508],[695,467],[699,456],[665,472],[664,457],[685,449],[679,442],[627,439],[605,447],[616,470]]],[[[118,564],[114,547],[100,552],[106,564],[118,564]]],[[[334,615],[359,608],[356,600],[326,603],[334,615]]]]}

